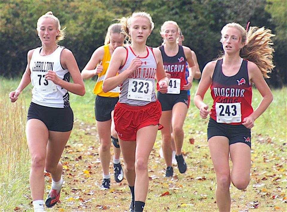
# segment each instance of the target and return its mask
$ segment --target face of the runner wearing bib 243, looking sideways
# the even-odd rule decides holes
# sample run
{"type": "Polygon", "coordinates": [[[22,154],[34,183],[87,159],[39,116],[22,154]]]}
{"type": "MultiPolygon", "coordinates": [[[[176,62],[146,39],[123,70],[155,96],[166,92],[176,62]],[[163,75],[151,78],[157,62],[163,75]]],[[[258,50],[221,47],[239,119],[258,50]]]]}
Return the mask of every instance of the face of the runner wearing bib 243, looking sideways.
{"type": "Polygon", "coordinates": [[[233,27],[228,27],[224,33],[222,33],[222,47],[226,53],[236,53],[244,46],[241,42],[240,31],[233,27]]]}

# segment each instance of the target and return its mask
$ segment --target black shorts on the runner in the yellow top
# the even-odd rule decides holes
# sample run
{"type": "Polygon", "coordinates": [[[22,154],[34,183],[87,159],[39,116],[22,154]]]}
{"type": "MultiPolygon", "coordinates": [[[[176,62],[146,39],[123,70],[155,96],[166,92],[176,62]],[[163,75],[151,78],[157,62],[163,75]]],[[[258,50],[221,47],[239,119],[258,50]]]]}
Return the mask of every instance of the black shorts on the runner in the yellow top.
{"type": "Polygon", "coordinates": [[[95,100],[95,116],[99,122],[105,122],[112,119],[111,113],[115,110],[115,105],[119,101],[119,97],[96,96],[95,100]]]}

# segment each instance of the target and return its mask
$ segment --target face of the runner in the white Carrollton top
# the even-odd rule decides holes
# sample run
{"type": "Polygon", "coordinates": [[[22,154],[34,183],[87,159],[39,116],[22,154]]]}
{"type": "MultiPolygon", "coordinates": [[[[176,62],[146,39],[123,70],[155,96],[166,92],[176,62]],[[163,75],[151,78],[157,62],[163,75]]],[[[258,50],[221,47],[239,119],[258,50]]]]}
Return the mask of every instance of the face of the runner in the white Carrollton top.
{"type": "Polygon", "coordinates": [[[55,44],[56,36],[59,35],[56,23],[51,18],[42,18],[39,23],[38,35],[43,44],[55,44]]]}

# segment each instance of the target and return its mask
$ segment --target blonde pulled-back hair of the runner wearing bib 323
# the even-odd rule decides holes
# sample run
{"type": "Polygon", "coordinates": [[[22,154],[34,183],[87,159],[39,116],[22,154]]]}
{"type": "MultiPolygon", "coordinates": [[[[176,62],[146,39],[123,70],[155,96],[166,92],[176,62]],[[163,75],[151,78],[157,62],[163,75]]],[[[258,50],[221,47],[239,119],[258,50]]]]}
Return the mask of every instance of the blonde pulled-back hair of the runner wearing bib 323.
{"type": "Polygon", "coordinates": [[[120,19],[120,22],[122,24],[123,30],[124,30],[124,35],[127,36],[128,38],[128,42],[131,42],[131,36],[130,36],[130,24],[131,24],[131,20],[135,17],[144,17],[147,18],[150,22],[150,30],[152,31],[154,29],[154,22],[152,21],[151,15],[149,13],[146,13],[144,11],[138,11],[138,12],[134,12],[131,16],[126,17],[122,17],[120,19]]]}

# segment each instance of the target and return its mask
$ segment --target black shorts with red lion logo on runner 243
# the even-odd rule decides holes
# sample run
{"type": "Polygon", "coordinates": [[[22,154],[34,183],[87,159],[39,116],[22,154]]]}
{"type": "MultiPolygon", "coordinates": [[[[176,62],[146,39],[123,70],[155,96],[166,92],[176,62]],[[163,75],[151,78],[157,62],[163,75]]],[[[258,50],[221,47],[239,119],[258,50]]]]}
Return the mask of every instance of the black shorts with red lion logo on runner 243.
{"type": "Polygon", "coordinates": [[[229,125],[217,123],[209,118],[207,126],[207,140],[213,136],[224,136],[229,139],[229,145],[242,142],[251,148],[251,130],[244,125],[229,125]]]}

